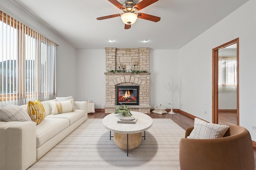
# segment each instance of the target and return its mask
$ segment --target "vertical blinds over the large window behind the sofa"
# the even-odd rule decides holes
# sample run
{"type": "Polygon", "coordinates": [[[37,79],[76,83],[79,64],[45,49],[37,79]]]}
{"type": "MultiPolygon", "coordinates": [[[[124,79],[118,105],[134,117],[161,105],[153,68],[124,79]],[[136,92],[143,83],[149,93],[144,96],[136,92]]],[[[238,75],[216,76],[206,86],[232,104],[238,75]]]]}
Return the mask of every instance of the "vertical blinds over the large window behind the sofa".
{"type": "Polygon", "coordinates": [[[0,101],[54,99],[56,55],[55,43],[0,11],[0,101]]]}

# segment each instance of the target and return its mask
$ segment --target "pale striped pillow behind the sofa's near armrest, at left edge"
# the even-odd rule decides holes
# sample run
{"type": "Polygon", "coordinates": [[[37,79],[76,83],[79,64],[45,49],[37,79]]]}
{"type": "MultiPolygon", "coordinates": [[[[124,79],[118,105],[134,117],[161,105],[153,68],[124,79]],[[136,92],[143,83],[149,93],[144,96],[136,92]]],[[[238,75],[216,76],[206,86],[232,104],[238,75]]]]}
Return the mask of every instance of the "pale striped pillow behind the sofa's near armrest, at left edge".
{"type": "Polygon", "coordinates": [[[8,104],[0,107],[0,121],[32,121],[24,109],[17,105],[8,104]]]}

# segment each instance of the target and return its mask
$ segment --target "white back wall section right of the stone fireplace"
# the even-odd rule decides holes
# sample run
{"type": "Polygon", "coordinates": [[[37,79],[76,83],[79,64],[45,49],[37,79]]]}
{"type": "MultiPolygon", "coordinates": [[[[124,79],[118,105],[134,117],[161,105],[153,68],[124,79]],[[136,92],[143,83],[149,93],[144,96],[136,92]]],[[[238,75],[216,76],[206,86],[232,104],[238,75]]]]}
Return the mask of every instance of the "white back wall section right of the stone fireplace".
{"type": "MultiPolygon", "coordinates": [[[[173,76],[178,80],[178,50],[150,49],[150,106],[162,106],[170,109],[171,95],[164,87],[173,76]]],[[[173,108],[179,108],[179,92],[174,94],[173,108]]]]}

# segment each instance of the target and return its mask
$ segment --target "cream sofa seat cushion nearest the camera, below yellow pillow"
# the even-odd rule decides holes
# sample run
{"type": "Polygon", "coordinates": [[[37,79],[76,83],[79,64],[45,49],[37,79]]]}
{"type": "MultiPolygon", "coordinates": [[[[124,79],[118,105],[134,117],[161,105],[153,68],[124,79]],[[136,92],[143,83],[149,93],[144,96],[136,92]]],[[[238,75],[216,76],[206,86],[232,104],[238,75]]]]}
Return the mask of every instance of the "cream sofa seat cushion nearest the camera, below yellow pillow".
{"type": "Polygon", "coordinates": [[[52,139],[69,126],[69,120],[63,118],[45,118],[36,126],[36,148],[52,139]]]}

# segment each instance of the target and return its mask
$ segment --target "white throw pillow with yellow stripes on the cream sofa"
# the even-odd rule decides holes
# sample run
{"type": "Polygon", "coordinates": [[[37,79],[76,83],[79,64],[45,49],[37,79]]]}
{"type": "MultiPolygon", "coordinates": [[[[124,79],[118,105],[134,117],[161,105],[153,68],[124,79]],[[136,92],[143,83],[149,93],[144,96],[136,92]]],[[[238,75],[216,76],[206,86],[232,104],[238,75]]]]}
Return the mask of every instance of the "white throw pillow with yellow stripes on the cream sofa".
{"type": "Polygon", "coordinates": [[[73,109],[73,99],[63,101],[63,102],[50,102],[52,106],[52,114],[58,114],[58,113],[66,113],[70,111],[75,111],[73,109]]]}

